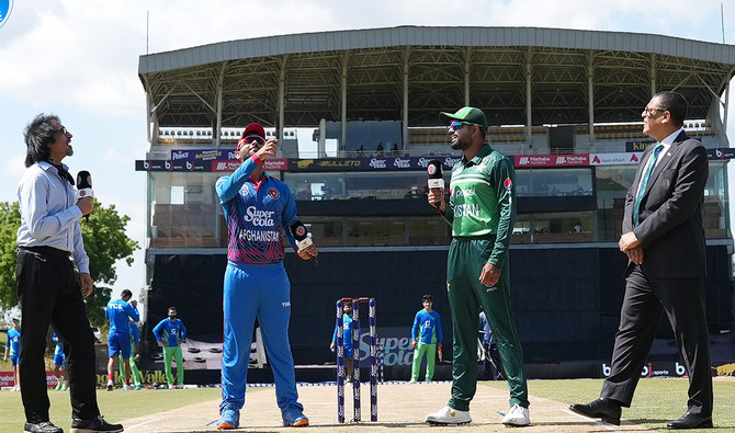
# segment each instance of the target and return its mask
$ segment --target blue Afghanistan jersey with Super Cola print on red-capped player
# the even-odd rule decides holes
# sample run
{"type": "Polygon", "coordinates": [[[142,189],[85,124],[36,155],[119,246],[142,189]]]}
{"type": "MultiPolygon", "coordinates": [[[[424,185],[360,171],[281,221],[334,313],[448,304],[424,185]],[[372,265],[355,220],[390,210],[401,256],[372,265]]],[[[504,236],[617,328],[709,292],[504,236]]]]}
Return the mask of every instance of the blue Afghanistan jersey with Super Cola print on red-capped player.
{"type": "Polygon", "coordinates": [[[289,226],[298,219],[289,186],[267,173],[259,183],[250,174],[262,162],[255,155],[215,189],[227,221],[227,260],[235,263],[270,264],[283,261],[282,230],[295,246],[289,226]]]}

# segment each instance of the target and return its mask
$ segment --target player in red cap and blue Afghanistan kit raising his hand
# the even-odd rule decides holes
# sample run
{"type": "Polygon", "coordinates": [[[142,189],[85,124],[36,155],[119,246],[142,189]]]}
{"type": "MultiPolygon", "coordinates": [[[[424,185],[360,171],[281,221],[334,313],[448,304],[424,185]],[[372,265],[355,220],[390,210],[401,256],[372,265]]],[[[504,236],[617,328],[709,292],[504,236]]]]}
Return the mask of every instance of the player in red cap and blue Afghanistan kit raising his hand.
{"type": "MultiPolygon", "coordinates": [[[[276,140],[265,140],[259,124],[245,128],[235,151],[242,162],[216,183],[229,236],[223,308],[225,343],[222,404],[217,429],[237,429],[245,404],[248,357],[256,317],[275,379],[275,397],[284,425],[308,425],[298,403],[294,362],[289,343],[291,284],[283,267],[281,231],[303,260],[316,258],[314,244],[297,248],[289,228],[297,224],[289,186],[269,176],[263,162],[275,156],[276,140]]],[[[303,227],[303,226],[302,226],[303,227]]]]}

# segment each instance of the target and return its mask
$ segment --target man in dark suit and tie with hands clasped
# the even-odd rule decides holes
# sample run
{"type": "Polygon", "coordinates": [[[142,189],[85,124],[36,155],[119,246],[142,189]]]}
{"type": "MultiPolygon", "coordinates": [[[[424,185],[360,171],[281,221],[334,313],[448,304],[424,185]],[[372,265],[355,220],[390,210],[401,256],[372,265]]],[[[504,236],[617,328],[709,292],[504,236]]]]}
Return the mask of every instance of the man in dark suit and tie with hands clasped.
{"type": "Polygon", "coordinates": [[[683,132],[687,101],[656,93],[643,110],[643,133],[658,143],[643,155],[625,197],[620,250],[629,260],[610,377],[600,398],[577,413],[620,424],[630,407],[660,317],[666,312],[689,374],[688,410],[669,429],[712,426],[710,339],[704,317],[702,202],[708,159],[683,132]]]}

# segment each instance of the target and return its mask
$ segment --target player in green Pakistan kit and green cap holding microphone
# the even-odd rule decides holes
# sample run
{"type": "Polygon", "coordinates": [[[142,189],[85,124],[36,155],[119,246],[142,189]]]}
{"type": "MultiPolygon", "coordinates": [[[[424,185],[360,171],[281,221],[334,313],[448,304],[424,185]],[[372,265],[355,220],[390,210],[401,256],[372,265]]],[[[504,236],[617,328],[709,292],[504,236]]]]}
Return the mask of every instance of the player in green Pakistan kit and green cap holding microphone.
{"type": "Polygon", "coordinates": [[[446,290],[454,332],[452,397],[446,407],[427,417],[432,424],[464,424],[472,421],[470,401],[477,388],[477,327],[479,307],[497,338],[498,352],[510,388],[510,411],[506,425],[531,423],[523,351],[510,306],[508,252],[516,219],[516,172],[505,155],[485,143],[487,117],[465,106],[456,113],[441,113],[451,123],[452,149],[464,152],[452,168],[449,203],[443,189],[429,192],[452,226],[446,263],[446,290]]]}

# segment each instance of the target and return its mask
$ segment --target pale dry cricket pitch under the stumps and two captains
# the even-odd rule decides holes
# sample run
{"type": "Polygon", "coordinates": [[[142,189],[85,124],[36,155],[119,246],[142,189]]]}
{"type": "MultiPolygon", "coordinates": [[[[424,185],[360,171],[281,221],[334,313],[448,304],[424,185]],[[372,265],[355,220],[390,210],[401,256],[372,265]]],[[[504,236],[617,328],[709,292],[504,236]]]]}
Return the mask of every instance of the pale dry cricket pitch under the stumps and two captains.
{"type": "MultiPolygon", "coordinates": [[[[362,420],[355,423],[337,423],[337,389],[335,386],[299,386],[299,401],[304,413],[309,418],[310,426],[325,432],[509,432],[500,423],[502,417],[497,412],[508,410],[508,390],[498,390],[478,386],[472,402],[473,421],[465,425],[429,426],[423,422],[426,415],[439,410],[446,403],[450,383],[432,384],[385,384],[378,387],[377,422],[370,422],[370,388],[363,384],[362,420]],[[368,421],[365,421],[368,420],[368,421]]],[[[253,389],[253,388],[251,388],[253,389]]],[[[240,429],[247,432],[294,432],[294,429],[281,426],[281,412],[275,406],[275,389],[257,388],[247,396],[240,415],[240,429]]],[[[182,390],[180,392],[185,392],[182,390]]],[[[352,392],[347,388],[346,418],[352,419],[352,392]]],[[[570,412],[567,403],[534,398],[531,396],[531,426],[519,433],[531,432],[614,432],[645,431],[638,424],[622,421],[622,425],[609,425],[570,412]]],[[[210,401],[160,412],[148,417],[126,420],[126,432],[207,432],[216,431],[219,400],[210,401]]]]}

